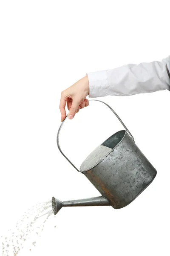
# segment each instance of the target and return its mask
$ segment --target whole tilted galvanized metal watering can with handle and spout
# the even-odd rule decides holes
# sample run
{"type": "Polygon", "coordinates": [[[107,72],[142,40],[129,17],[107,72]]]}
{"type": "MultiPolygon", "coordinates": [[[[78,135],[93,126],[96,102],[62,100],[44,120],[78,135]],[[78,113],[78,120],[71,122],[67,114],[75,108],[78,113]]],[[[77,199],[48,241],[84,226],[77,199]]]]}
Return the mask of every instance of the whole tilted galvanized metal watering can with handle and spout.
{"type": "Polygon", "coordinates": [[[156,177],[156,169],[137,147],[132,134],[122,120],[108,104],[102,103],[111,109],[125,130],[116,132],[91,152],[80,166],[80,170],[63,154],[59,146],[59,132],[65,120],[57,133],[57,146],[61,154],[78,172],[91,181],[101,196],[64,202],[53,197],[54,215],[62,207],[68,206],[111,205],[115,209],[120,209],[130,204],[156,177]]]}

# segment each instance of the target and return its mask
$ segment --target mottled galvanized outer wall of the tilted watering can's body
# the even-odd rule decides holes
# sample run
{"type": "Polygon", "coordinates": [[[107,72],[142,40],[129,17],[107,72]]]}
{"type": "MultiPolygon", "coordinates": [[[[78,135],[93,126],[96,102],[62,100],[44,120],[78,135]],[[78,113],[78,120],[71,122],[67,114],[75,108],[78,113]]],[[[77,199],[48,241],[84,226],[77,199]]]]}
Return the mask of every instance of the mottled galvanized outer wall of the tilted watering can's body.
{"type": "Polygon", "coordinates": [[[156,169],[124,132],[121,143],[105,159],[83,172],[115,209],[130,204],[156,176],[156,169]]]}

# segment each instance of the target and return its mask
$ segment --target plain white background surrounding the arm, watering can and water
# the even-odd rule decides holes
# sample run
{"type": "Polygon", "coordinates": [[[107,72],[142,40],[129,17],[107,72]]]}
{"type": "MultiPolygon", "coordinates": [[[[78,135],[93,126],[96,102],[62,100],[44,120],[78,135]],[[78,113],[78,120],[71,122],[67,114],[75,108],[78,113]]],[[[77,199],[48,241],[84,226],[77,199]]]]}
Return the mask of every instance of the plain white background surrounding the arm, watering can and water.
{"type": "MultiPolygon", "coordinates": [[[[98,196],[60,154],[59,99],[87,72],[161,61],[170,52],[168,1],[0,1],[0,231],[34,204],[98,196]]],[[[101,99],[101,98],[100,98],[101,99]]],[[[170,230],[170,92],[102,98],[157,169],[129,206],[63,208],[37,247],[18,255],[164,255],[170,230]],[[57,229],[54,231],[54,225],[57,229]]],[[[66,120],[60,143],[79,166],[122,129],[98,102],[66,120]]]]}

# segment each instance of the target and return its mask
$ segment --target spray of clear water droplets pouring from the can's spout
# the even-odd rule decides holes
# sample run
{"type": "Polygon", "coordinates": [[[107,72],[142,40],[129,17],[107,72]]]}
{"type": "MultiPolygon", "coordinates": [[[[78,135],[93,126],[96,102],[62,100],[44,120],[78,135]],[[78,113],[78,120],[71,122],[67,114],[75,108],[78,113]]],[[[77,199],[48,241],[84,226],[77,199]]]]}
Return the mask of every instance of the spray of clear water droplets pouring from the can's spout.
{"type": "MultiPolygon", "coordinates": [[[[17,221],[14,228],[0,237],[0,241],[2,241],[2,256],[17,256],[33,234],[40,237],[48,218],[52,214],[51,201],[37,204],[28,209],[27,212],[24,212],[23,217],[17,221]]],[[[31,247],[35,246],[36,241],[33,241],[31,247]]]]}

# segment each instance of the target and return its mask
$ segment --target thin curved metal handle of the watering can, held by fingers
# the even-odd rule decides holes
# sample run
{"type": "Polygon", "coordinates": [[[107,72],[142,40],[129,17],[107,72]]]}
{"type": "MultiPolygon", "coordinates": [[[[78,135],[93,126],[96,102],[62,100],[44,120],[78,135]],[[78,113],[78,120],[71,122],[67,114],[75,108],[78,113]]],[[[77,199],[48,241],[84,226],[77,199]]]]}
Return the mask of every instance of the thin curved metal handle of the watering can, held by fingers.
{"type": "MultiPolygon", "coordinates": [[[[90,99],[89,101],[91,100],[94,100],[94,101],[98,101],[98,102],[102,102],[101,100],[98,100],[98,99],[90,99]]],[[[127,129],[127,127],[124,125],[124,123],[122,122],[122,120],[120,119],[120,117],[116,114],[116,112],[105,102],[102,102],[104,103],[106,106],[108,106],[108,108],[111,109],[111,111],[115,114],[115,116],[119,119],[119,121],[121,122],[121,124],[124,126],[126,132],[129,134],[129,136],[131,137],[131,139],[134,141],[134,138],[132,136],[132,134],[130,133],[130,131],[127,129]]],[[[62,152],[60,146],[59,146],[59,132],[61,131],[61,128],[62,128],[62,125],[64,124],[65,120],[67,119],[68,115],[65,117],[65,119],[62,121],[60,127],[59,127],[59,130],[58,130],[58,133],[57,133],[57,146],[58,146],[58,149],[60,151],[60,153],[68,160],[69,163],[71,163],[71,161],[65,156],[65,154],[62,152]]],[[[76,166],[74,166],[73,163],[71,163],[71,165],[79,172],[79,169],[77,169],[76,166]]]]}

